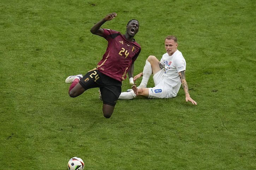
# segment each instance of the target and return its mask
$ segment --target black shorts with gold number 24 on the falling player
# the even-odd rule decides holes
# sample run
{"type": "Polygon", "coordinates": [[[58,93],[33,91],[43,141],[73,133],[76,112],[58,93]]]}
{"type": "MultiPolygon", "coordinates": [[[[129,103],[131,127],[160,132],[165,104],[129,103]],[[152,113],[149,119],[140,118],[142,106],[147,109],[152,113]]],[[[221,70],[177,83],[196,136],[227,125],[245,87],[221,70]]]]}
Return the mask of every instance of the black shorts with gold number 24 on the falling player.
{"type": "Polygon", "coordinates": [[[85,74],[79,83],[85,90],[99,87],[103,103],[111,106],[115,106],[122,90],[122,82],[101,73],[97,69],[85,74]]]}

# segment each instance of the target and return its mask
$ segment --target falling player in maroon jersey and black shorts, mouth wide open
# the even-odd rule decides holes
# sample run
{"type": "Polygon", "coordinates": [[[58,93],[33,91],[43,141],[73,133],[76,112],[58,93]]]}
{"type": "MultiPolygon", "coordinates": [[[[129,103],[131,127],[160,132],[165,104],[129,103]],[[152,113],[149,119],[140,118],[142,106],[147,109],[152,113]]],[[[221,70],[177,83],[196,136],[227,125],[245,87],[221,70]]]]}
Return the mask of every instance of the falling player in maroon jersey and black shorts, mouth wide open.
{"type": "Polygon", "coordinates": [[[108,14],[91,28],[91,33],[108,41],[107,50],[97,67],[84,76],[69,76],[65,81],[72,83],[69,88],[70,97],[77,97],[87,89],[99,87],[105,118],[110,118],[114,111],[126,73],[130,78],[132,89],[136,94],[138,93],[132,77],[134,62],[141,51],[141,46],[133,38],[139,31],[139,22],[135,19],[130,20],[126,26],[125,34],[100,28],[106,21],[112,20],[116,16],[116,13],[108,14]]]}

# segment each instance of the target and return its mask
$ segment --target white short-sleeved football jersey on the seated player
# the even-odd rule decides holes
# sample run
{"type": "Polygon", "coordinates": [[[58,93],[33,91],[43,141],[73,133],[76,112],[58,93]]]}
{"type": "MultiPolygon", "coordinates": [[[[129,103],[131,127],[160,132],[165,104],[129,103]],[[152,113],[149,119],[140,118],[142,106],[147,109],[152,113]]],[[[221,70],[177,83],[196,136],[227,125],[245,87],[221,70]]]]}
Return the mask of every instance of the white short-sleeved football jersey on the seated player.
{"type": "Polygon", "coordinates": [[[179,72],[186,70],[186,61],[182,53],[177,50],[173,55],[169,56],[168,53],[163,54],[160,63],[164,66],[165,72],[165,85],[172,88],[174,96],[177,95],[180,89],[180,77],[179,72]]]}

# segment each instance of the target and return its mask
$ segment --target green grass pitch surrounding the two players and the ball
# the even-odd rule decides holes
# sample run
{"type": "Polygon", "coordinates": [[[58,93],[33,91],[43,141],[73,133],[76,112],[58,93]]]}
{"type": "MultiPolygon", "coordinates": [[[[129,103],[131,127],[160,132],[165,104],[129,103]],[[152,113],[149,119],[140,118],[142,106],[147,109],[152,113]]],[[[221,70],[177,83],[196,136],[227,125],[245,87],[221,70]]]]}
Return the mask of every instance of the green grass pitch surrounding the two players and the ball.
{"type": "Polygon", "coordinates": [[[1,0],[0,169],[67,170],[75,156],[91,170],[256,169],[255,8],[254,0],[1,0]],[[134,75],[177,36],[197,106],[180,89],[173,99],[118,101],[106,119],[98,89],[69,97],[66,77],[95,68],[107,47],[91,27],[112,12],[103,28],[125,33],[130,19],[140,22],[134,75]]]}

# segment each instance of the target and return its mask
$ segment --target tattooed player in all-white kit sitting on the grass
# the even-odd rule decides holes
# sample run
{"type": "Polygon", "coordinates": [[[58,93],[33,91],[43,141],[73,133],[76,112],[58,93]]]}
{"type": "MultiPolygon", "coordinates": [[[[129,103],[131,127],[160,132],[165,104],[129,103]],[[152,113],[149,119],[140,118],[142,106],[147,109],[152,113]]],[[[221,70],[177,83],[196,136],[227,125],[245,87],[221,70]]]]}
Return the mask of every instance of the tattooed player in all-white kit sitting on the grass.
{"type": "MultiPolygon", "coordinates": [[[[185,70],[186,61],[182,53],[177,50],[177,38],[168,36],[165,38],[166,53],[163,54],[160,62],[155,56],[149,56],[146,60],[143,72],[136,75],[134,82],[143,76],[141,84],[137,87],[138,93],[135,94],[133,90],[130,92],[122,92],[118,99],[129,100],[136,96],[147,97],[150,99],[162,99],[175,97],[180,89],[180,85],[185,92],[185,100],[190,101],[193,105],[197,105],[189,95],[189,88],[187,86],[185,70]],[[155,87],[147,88],[147,83],[150,75],[153,74],[155,87]]],[[[130,78],[131,79],[131,78],[130,78]]],[[[130,83],[133,83],[130,80],[130,83]]]]}

